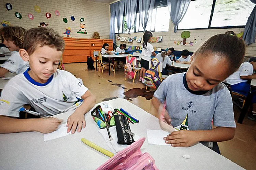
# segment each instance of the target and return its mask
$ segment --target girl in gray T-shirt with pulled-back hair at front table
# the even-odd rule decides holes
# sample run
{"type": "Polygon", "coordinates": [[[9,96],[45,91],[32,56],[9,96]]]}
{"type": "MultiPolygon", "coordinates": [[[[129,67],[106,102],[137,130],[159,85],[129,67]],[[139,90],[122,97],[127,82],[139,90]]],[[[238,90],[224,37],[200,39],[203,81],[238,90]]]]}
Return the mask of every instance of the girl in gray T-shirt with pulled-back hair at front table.
{"type": "Polygon", "coordinates": [[[201,142],[219,153],[216,142],[232,139],[236,128],[231,94],[221,82],[243,62],[245,43],[235,36],[218,34],[193,55],[187,72],[169,75],[160,84],[152,104],[159,119],[177,129],[164,137],[167,144],[189,147],[201,142]]]}

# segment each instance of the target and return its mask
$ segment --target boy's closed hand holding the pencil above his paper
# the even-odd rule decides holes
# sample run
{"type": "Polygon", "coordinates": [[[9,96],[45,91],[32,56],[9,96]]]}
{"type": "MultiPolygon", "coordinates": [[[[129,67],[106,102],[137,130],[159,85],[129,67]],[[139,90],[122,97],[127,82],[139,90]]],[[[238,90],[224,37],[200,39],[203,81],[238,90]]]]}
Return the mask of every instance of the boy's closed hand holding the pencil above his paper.
{"type": "Polygon", "coordinates": [[[39,118],[37,122],[36,130],[41,133],[51,133],[58,129],[59,125],[63,122],[63,119],[58,118],[39,118]]]}

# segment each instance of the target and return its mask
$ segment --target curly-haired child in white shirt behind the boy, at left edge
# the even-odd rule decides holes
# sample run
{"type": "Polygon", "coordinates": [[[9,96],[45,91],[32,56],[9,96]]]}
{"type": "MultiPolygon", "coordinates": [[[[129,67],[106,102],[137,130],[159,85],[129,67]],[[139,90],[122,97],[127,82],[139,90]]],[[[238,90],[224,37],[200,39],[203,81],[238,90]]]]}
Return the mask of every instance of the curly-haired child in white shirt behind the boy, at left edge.
{"type": "Polygon", "coordinates": [[[0,38],[3,44],[13,51],[12,55],[0,67],[0,77],[6,73],[20,74],[27,70],[29,63],[19,56],[19,49],[23,46],[25,29],[22,27],[3,27],[0,29],[0,38]]]}

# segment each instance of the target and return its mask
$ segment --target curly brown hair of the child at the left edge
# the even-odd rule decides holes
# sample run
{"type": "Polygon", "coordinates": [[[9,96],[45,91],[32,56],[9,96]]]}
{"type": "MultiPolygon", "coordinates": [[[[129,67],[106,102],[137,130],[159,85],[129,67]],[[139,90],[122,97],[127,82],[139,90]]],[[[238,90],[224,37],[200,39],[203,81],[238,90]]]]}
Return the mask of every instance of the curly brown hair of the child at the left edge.
{"type": "Polygon", "coordinates": [[[22,48],[25,32],[26,30],[22,27],[3,27],[0,29],[0,38],[2,42],[4,41],[4,39],[6,41],[13,41],[17,47],[22,48]]]}

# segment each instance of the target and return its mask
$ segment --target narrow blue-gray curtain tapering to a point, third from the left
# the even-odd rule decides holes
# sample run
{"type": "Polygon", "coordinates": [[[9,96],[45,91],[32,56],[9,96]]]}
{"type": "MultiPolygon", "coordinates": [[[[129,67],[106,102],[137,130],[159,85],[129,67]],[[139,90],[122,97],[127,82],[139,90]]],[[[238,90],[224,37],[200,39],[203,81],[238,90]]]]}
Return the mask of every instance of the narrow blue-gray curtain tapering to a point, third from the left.
{"type": "Polygon", "coordinates": [[[136,17],[136,7],[137,7],[137,0],[122,0],[125,4],[125,16],[127,22],[127,28],[129,29],[129,34],[131,31],[131,27],[134,24],[135,17],[136,17]]]}

